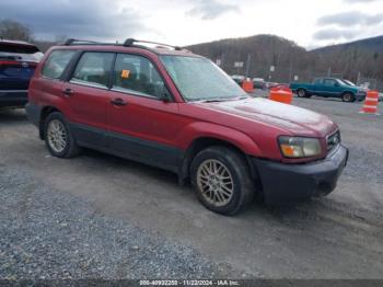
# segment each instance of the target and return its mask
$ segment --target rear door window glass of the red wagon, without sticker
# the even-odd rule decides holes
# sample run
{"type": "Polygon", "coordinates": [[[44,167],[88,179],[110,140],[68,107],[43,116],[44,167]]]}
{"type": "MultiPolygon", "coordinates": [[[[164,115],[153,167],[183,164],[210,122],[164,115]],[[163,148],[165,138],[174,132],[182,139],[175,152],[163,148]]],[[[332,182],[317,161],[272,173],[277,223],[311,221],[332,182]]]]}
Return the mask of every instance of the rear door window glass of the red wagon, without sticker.
{"type": "Polygon", "coordinates": [[[113,53],[84,53],[76,67],[71,82],[107,87],[113,58],[113,53]]]}

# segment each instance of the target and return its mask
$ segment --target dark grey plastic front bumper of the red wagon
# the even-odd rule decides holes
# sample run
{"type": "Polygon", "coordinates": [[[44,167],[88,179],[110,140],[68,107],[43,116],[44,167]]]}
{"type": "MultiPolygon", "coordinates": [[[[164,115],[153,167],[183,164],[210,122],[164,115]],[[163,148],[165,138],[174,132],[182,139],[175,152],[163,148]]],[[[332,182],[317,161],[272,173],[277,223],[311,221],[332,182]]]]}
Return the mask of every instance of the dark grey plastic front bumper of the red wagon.
{"type": "Polygon", "coordinates": [[[265,203],[283,205],[329,194],[347,160],[348,149],[339,145],[322,161],[285,164],[253,158],[253,164],[260,177],[265,203]]]}

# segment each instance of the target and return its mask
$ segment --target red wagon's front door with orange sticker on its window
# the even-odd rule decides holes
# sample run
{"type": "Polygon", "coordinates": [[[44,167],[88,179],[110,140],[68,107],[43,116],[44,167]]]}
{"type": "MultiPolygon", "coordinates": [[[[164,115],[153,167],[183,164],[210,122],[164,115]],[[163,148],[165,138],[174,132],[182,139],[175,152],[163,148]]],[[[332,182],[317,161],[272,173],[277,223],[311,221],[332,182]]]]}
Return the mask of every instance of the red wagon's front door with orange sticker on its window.
{"type": "Polygon", "coordinates": [[[155,66],[146,57],[118,54],[107,107],[109,147],[125,157],[175,170],[181,150],[178,104],[155,66]]]}

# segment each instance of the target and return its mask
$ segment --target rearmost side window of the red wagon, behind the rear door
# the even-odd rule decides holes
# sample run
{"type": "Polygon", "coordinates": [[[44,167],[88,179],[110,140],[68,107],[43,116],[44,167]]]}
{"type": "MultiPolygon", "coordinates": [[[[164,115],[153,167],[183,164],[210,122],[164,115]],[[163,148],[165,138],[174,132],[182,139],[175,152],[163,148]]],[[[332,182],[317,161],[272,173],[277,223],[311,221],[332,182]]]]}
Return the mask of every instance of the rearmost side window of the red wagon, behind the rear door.
{"type": "Polygon", "coordinates": [[[50,53],[48,59],[44,64],[43,76],[51,79],[59,79],[74,53],[76,50],[54,50],[50,53]]]}

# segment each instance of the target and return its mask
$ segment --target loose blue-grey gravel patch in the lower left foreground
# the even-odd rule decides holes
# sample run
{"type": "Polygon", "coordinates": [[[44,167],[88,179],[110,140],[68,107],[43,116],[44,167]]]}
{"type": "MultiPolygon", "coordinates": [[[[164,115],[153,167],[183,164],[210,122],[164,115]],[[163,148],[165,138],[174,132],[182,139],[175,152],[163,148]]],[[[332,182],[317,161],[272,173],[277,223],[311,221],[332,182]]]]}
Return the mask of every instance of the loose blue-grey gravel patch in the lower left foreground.
{"type": "Polygon", "coordinates": [[[0,165],[0,278],[199,278],[218,267],[0,165]]]}

